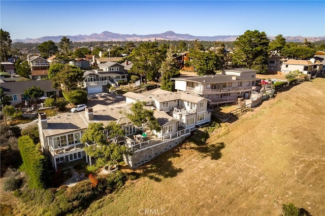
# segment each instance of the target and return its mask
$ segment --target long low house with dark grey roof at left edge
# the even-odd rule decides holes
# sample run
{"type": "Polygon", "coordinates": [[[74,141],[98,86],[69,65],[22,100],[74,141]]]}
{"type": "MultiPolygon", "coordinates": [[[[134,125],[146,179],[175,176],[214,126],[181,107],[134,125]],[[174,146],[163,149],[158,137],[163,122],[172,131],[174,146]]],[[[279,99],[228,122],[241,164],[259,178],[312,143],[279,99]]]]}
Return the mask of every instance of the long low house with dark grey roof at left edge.
{"type": "Polygon", "coordinates": [[[43,89],[44,97],[59,97],[59,90],[52,88],[52,82],[50,80],[1,83],[1,88],[6,95],[5,97],[11,105],[16,105],[23,102],[23,100],[27,100],[28,98],[24,95],[24,91],[32,86],[43,89]]]}

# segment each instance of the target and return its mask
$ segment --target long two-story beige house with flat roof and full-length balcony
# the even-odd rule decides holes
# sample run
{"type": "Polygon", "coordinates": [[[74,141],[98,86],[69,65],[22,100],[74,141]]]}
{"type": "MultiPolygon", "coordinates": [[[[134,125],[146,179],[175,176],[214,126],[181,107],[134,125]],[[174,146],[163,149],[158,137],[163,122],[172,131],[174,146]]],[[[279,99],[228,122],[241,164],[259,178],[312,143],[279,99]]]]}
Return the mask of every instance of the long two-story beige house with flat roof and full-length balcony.
{"type": "Polygon", "coordinates": [[[236,102],[238,98],[249,98],[255,86],[256,70],[233,68],[222,71],[222,75],[173,78],[175,89],[196,93],[210,101],[209,105],[236,102]]]}

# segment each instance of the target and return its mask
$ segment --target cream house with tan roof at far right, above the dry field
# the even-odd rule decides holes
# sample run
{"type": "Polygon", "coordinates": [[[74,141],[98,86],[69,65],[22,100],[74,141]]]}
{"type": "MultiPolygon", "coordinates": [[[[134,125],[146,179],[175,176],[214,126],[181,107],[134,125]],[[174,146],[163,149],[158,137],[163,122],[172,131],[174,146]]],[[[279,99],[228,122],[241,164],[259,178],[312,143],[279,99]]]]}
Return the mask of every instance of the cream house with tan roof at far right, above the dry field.
{"type": "Polygon", "coordinates": [[[281,72],[286,74],[290,71],[299,70],[306,75],[314,75],[317,71],[322,70],[323,63],[315,58],[309,60],[289,59],[282,63],[281,72]]]}

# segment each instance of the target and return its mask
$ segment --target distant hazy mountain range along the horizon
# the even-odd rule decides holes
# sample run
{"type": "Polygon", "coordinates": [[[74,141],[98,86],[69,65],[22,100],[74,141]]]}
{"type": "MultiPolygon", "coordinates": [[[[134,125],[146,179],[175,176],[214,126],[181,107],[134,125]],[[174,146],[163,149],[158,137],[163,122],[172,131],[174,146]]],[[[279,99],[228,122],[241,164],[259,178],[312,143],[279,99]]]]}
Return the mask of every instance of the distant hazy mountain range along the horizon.
{"type": "MultiPolygon", "coordinates": [[[[174,31],[166,31],[164,33],[158,34],[120,34],[113,33],[109,31],[103,31],[102,33],[92,33],[89,35],[59,35],[59,36],[46,36],[37,39],[16,39],[12,40],[15,42],[22,43],[43,43],[45,41],[53,41],[55,43],[59,42],[63,36],[66,36],[73,42],[91,42],[91,41],[154,41],[154,40],[169,40],[169,41],[193,41],[199,39],[200,41],[236,41],[236,38],[239,35],[218,35],[218,36],[194,36],[190,34],[178,34],[174,31]]],[[[274,39],[274,36],[269,36],[271,40],[274,39]]],[[[309,42],[315,42],[320,40],[325,40],[323,37],[301,37],[301,36],[288,36],[284,37],[287,42],[304,42],[307,39],[309,42]]]]}

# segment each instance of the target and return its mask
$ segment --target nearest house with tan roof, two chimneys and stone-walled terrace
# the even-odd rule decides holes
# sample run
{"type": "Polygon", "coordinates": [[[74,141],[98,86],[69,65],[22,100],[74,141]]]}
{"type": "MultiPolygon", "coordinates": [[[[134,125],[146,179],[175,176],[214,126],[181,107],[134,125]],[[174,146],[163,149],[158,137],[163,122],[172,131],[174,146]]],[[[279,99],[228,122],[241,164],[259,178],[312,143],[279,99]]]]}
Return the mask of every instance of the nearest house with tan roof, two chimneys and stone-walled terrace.
{"type": "MultiPolygon", "coordinates": [[[[126,145],[133,152],[132,156],[127,156],[124,160],[131,168],[135,168],[168,151],[190,135],[190,128],[180,127],[181,120],[169,115],[168,112],[155,109],[153,105],[144,108],[153,110],[161,130],[147,130],[146,124],[142,127],[135,126],[123,112],[119,112],[128,112],[131,105],[131,103],[110,106],[98,104],[87,107],[84,112],[63,113],[54,117],[39,113],[38,127],[43,153],[50,158],[56,170],[60,165],[77,160],[91,165],[92,160],[86,155],[84,147],[93,146],[96,143],[82,143],[80,141],[82,135],[89,123],[101,122],[107,125],[110,121],[115,121],[125,131],[125,136],[120,137],[117,142],[120,145],[126,145]]],[[[181,115],[179,111],[177,113],[181,115]]],[[[109,131],[103,131],[103,133],[109,137],[109,131]]]]}

